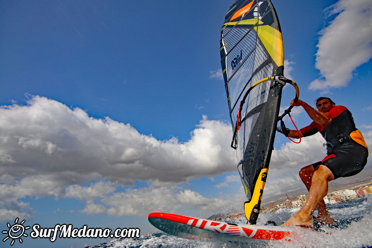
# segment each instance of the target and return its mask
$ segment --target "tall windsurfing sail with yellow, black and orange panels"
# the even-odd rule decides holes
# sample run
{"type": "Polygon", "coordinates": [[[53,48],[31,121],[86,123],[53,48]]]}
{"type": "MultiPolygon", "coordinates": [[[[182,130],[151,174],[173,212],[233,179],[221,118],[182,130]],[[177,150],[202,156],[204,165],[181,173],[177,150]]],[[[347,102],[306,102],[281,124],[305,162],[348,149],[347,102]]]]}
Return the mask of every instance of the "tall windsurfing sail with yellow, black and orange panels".
{"type": "Polygon", "coordinates": [[[234,133],[231,146],[237,150],[248,199],[246,218],[256,224],[285,84],[275,81],[283,76],[283,41],[271,1],[235,1],[226,13],[220,44],[234,133]]]}

